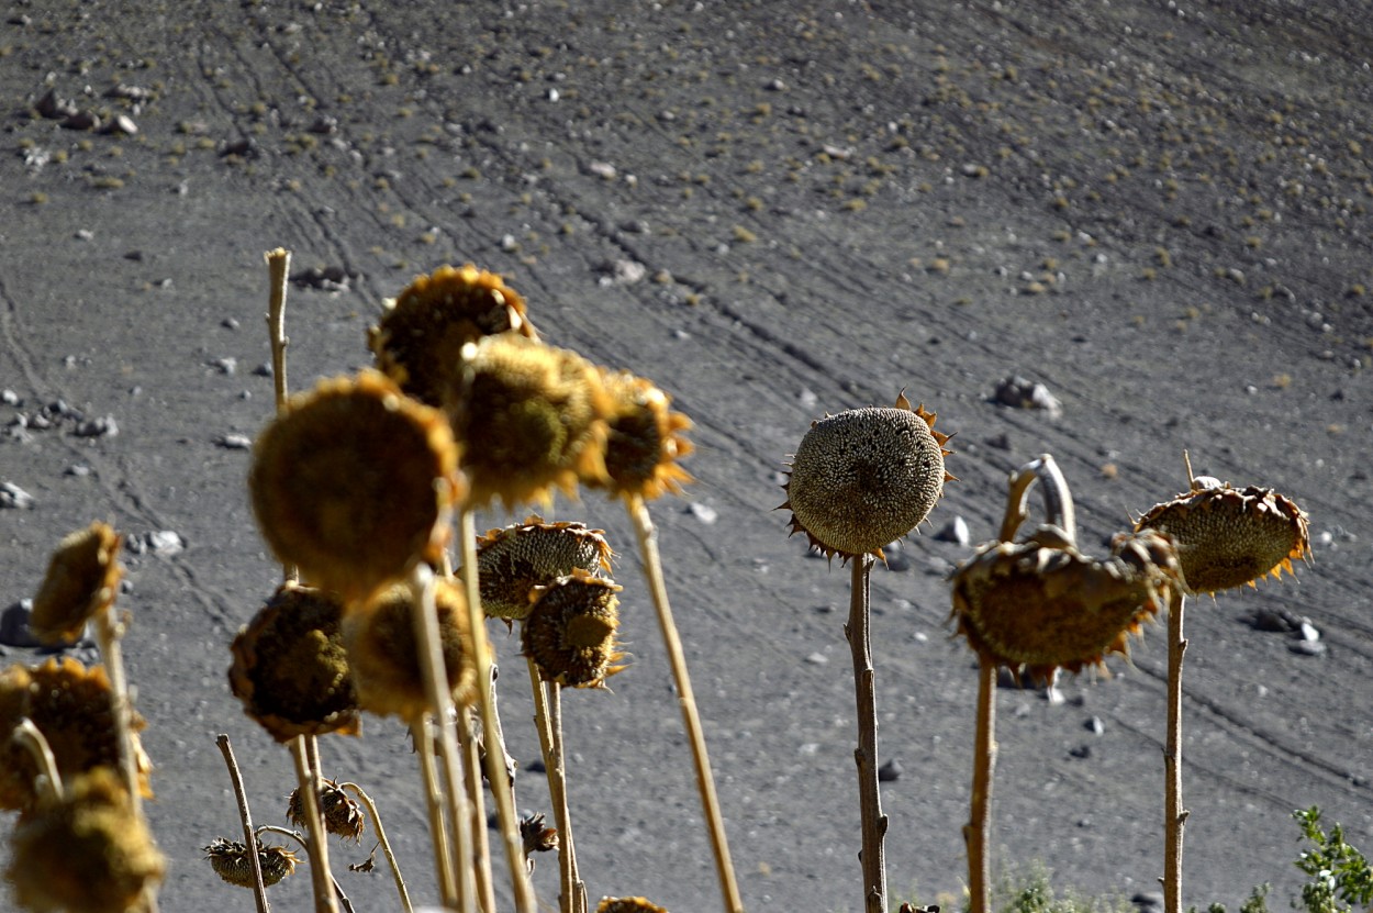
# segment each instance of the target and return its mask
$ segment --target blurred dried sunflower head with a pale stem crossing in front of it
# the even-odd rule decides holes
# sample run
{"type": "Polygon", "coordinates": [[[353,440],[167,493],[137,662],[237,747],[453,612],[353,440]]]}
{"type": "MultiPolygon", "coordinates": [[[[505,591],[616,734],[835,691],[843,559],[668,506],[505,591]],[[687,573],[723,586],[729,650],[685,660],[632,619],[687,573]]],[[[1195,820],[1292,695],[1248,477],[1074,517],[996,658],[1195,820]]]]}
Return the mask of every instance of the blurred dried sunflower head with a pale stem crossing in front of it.
{"type": "MultiPolygon", "coordinates": [[[[448,685],[453,703],[464,707],[476,700],[476,664],[472,660],[467,600],[461,586],[439,579],[435,581],[434,601],[448,685]]],[[[353,669],[358,706],[380,717],[394,714],[408,724],[417,722],[430,710],[415,644],[413,614],[409,586],[395,585],[343,621],[343,645],[353,669]]]]}

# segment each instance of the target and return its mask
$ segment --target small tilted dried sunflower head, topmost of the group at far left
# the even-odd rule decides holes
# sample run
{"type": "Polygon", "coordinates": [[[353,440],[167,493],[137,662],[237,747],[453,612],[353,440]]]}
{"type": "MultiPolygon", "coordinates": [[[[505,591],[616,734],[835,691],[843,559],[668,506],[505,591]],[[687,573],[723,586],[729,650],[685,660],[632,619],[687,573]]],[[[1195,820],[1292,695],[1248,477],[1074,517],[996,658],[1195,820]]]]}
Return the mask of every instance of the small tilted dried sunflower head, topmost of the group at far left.
{"type": "Polygon", "coordinates": [[[88,621],[114,604],[124,577],[119,544],[119,535],[99,522],[62,540],[33,597],[29,627],[38,640],[44,644],[74,641],[88,621]]]}

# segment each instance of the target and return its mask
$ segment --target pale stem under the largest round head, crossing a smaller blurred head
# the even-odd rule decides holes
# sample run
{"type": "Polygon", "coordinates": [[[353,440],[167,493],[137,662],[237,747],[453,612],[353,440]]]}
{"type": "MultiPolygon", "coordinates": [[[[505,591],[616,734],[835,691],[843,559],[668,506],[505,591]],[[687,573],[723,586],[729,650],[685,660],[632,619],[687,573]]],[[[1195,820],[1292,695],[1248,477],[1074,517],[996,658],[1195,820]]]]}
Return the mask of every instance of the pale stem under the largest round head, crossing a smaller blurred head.
{"type": "MultiPolygon", "coordinates": [[[[474,881],[470,848],[472,846],[471,807],[467,802],[467,788],[463,785],[461,766],[454,729],[456,711],[453,695],[448,689],[448,669],[443,663],[443,641],[438,627],[438,608],[434,603],[434,571],[424,562],[417,562],[409,575],[411,601],[413,605],[415,643],[419,649],[420,671],[424,689],[428,693],[434,729],[438,732],[437,754],[443,763],[448,789],[449,827],[453,828],[454,853],[438,859],[438,865],[453,866],[456,857],[457,888],[456,902],[463,913],[475,913],[476,887],[474,881]]],[[[431,743],[432,744],[432,743],[431,743]]],[[[437,827],[437,825],[435,825],[437,827]]],[[[435,848],[437,853],[437,848],[435,848]]],[[[442,876],[439,879],[442,883],[442,876]]]]}

